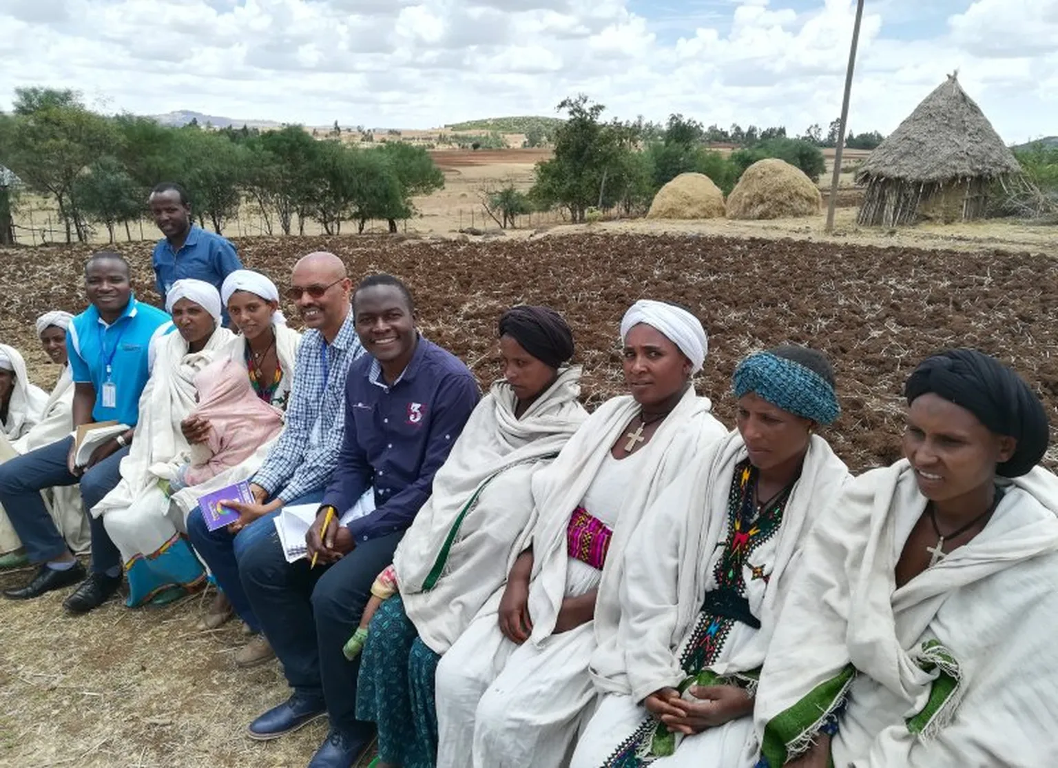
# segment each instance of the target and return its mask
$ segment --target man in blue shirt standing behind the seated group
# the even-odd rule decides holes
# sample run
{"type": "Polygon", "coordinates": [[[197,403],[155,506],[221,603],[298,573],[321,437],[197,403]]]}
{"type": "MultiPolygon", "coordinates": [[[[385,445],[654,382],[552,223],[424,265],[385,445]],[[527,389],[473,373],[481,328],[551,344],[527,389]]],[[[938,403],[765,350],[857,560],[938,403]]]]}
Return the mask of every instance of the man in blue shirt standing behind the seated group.
{"type": "MultiPolygon", "coordinates": [[[[204,280],[219,293],[224,278],[242,269],[235,246],[191,222],[191,204],[180,184],[163,181],[151,191],[148,204],[154,224],[165,235],[150,258],[163,306],[165,294],[178,280],[204,280]]],[[[226,307],[223,318],[227,325],[226,307]]]]}

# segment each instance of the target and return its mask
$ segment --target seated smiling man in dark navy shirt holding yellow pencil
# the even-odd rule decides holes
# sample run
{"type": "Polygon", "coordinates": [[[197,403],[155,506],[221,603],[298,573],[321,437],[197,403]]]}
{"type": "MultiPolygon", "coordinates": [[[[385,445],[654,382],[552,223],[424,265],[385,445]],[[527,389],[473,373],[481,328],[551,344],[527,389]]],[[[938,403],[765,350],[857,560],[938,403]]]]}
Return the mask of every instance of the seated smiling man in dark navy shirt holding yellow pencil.
{"type": "Polygon", "coordinates": [[[328,714],[330,733],[310,768],[350,768],[371,739],[371,724],[355,716],[359,659],[347,661],[342,646],[480,396],[460,360],[419,336],[399,280],[366,278],[352,309],[367,354],[349,368],[342,452],[306,537],[308,556],[288,564],[273,534],[239,559],[247,595],[294,690],[250,725],[250,735],[275,738],[328,714]],[[373,511],[339,523],[368,488],[373,511]],[[322,534],[328,512],[334,522],[322,534]]]}

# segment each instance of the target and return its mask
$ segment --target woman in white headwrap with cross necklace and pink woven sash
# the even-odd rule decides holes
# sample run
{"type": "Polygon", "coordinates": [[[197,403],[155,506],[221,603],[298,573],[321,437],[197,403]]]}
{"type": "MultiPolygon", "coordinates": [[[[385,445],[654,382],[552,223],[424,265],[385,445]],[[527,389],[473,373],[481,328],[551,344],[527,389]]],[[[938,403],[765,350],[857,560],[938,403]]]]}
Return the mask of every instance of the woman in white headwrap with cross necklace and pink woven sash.
{"type": "Polygon", "coordinates": [[[592,413],[533,480],[531,546],[495,610],[482,611],[437,669],[440,768],[555,768],[594,698],[588,660],[616,631],[622,553],[660,489],[723,425],[698,397],[701,323],[639,301],[621,321],[632,394],[592,413]]]}

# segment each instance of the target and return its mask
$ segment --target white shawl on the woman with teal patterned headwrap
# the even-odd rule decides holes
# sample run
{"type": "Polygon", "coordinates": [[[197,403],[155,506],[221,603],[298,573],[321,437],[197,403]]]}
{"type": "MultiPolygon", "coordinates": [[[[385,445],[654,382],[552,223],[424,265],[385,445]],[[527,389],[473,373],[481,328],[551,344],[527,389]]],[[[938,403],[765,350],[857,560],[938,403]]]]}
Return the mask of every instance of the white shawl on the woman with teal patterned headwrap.
{"type": "MultiPolygon", "coordinates": [[[[706,592],[716,586],[713,553],[728,534],[731,481],[746,457],[742,435],[734,430],[696,456],[693,466],[661,493],[647,513],[624,553],[616,635],[620,653],[600,654],[591,662],[600,690],[631,694],[639,701],[658,689],[677,687],[687,677],[679,649],[694,630],[706,592]]],[[[711,666],[712,672],[735,675],[764,663],[801,544],[849,479],[844,462],[825,440],[813,435],[776,533],[767,588],[747,595],[761,629],[742,648],[726,648],[725,661],[711,666]]]]}

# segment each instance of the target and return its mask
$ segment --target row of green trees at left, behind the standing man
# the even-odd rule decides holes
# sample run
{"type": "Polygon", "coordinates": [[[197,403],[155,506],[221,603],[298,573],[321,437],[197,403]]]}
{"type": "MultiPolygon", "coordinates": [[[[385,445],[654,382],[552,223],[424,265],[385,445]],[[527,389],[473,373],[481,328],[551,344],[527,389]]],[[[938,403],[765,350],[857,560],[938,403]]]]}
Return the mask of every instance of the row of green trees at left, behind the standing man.
{"type": "MultiPolygon", "coordinates": [[[[0,243],[10,242],[13,196],[24,185],[55,201],[67,243],[92,226],[111,240],[146,211],[150,187],[177,181],[201,226],[222,232],[240,208],[256,210],[269,234],[304,234],[318,221],[327,234],[345,221],[363,231],[372,219],[414,215],[412,197],[441,189],[444,177],[423,147],[393,141],[361,149],[313,139],[297,125],[258,131],[163,126],[149,118],[104,115],[72,90],[19,88],[0,113],[0,243]],[[11,183],[17,177],[21,185],[11,183]],[[6,217],[6,218],[5,218],[6,217]]],[[[131,238],[131,237],[130,237],[131,238]]]]}

